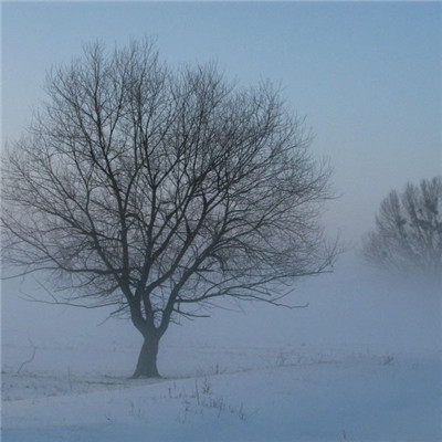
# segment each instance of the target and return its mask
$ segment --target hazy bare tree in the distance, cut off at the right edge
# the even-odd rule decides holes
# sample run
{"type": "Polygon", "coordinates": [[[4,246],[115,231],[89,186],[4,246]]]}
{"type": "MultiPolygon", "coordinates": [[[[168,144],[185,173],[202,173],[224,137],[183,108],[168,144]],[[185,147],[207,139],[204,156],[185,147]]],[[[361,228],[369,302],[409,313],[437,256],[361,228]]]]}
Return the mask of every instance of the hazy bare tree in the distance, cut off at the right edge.
{"type": "Polygon", "coordinates": [[[366,259],[387,271],[442,276],[442,180],[408,183],[380,204],[364,243],[366,259]]]}

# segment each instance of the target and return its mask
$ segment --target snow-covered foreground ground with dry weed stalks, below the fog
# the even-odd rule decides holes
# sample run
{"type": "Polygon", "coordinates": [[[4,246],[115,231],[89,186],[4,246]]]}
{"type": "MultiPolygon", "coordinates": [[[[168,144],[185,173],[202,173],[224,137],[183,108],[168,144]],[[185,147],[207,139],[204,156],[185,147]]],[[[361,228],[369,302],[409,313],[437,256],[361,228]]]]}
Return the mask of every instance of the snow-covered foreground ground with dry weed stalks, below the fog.
{"type": "Polygon", "coordinates": [[[292,365],[260,349],[255,356],[269,366],[156,381],[3,375],[2,440],[441,440],[440,360],[359,355],[292,365]]]}

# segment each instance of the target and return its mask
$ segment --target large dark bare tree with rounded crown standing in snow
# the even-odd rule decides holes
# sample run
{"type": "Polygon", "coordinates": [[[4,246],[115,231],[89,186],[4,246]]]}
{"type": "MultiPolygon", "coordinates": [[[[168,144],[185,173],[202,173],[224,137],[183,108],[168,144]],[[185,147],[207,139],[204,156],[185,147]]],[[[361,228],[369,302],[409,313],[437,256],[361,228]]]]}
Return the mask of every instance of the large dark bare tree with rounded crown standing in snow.
{"type": "Polygon", "coordinates": [[[330,266],[318,224],[329,170],[269,82],[170,70],[149,40],[53,70],[48,101],[3,161],[3,259],[50,272],[56,303],[113,306],[160,337],[220,297],[281,304],[330,266]]]}

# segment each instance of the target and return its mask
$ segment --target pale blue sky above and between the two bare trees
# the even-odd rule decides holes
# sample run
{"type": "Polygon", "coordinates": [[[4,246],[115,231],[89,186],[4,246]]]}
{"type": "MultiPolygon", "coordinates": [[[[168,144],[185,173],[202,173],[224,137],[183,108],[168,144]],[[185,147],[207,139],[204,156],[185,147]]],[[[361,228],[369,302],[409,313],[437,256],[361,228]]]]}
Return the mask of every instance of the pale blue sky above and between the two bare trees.
{"type": "Polygon", "coordinates": [[[335,168],[343,196],[325,220],[357,244],[391,188],[442,171],[441,18],[430,2],[3,2],[3,139],[82,42],[156,35],[170,63],[214,60],[241,85],[281,83],[335,168]]]}

